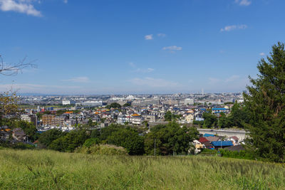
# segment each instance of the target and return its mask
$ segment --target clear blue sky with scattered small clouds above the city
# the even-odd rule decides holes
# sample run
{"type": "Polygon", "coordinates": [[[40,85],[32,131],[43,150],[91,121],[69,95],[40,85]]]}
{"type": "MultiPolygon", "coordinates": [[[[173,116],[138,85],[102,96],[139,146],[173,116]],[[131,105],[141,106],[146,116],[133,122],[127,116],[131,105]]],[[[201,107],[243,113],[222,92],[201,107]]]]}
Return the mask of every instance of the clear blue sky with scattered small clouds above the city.
{"type": "Polygon", "coordinates": [[[284,0],[0,0],[0,91],[241,92],[285,42],[284,0]]]}

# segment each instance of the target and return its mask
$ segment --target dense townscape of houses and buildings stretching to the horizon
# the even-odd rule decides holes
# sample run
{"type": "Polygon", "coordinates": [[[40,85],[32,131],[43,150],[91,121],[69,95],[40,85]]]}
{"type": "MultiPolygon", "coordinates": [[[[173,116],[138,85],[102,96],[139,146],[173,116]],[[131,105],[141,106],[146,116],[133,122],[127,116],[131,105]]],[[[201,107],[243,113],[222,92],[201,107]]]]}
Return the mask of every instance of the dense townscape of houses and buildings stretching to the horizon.
{"type": "MultiPolygon", "coordinates": [[[[31,95],[19,98],[21,113],[17,117],[24,122],[33,123],[38,133],[52,129],[70,132],[78,130],[80,127],[101,130],[108,127],[108,125],[116,124],[133,126],[140,129],[140,133],[143,135],[150,132],[150,129],[155,125],[165,125],[168,122],[175,121],[181,127],[185,125],[198,129],[199,139],[188,142],[193,144],[193,147],[195,147],[194,153],[198,154],[202,149],[234,146],[233,150],[235,151],[244,150],[240,144],[243,143],[246,132],[241,128],[230,132],[232,130],[229,129],[231,128],[230,125],[221,125],[221,122],[219,122],[219,117],[231,115],[234,104],[241,105],[242,102],[242,93],[97,96],[31,95]],[[211,118],[214,121],[209,122],[208,120],[211,120],[211,118]],[[204,122],[204,120],[208,122],[204,122]],[[215,129],[215,132],[213,130],[207,131],[207,128],[215,129]],[[224,131],[226,133],[221,133],[224,131]],[[239,134],[240,132],[242,132],[242,135],[239,134]],[[234,134],[237,134],[238,137],[234,134]]],[[[12,116],[6,115],[6,117],[12,116]]],[[[2,139],[11,139],[9,134],[12,134],[13,142],[18,141],[35,146],[38,142],[31,142],[21,128],[1,127],[2,139]]]]}

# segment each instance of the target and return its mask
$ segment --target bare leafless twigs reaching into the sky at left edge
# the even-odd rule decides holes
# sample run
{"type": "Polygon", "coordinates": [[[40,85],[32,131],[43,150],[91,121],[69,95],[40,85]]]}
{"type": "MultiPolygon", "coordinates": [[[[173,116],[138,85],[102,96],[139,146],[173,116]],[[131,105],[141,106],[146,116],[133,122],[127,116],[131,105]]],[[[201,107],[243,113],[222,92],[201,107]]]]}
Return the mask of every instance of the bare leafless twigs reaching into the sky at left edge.
{"type": "Polygon", "coordinates": [[[15,64],[9,64],[4,63],[4,60],[2,56],[0,55],[0,74],[1,75],[17,75],[18,73],[22,73],[24,68],[32,67],[36,68],[36,60],[32,60],[29,62],[26,62],[26,58],[23,58],[22,60],[19,60],[19,63],[15,64]]]}

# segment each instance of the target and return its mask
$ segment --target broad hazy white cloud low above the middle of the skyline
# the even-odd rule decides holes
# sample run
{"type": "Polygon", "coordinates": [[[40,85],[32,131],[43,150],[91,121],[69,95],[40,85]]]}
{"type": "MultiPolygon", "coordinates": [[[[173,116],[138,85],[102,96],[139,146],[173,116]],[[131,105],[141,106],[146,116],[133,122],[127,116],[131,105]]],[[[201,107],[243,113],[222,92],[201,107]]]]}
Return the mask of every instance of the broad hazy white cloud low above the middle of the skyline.
{"type": "Polygon", "coordinates": [[[148,86],[152,88],[172,88],[179,86],[178,83],[164,80],[162,78],[133,78],[130,82],[134,85],[148,86]]]}

